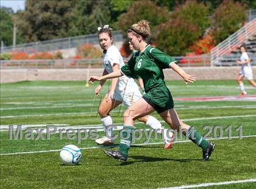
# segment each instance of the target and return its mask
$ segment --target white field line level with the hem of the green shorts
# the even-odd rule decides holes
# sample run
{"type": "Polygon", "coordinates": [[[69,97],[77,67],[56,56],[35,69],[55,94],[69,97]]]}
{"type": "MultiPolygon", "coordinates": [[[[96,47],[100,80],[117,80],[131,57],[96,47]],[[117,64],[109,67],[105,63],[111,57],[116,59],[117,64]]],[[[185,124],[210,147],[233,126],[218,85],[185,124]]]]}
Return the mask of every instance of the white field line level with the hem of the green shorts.
{"type": "MultiPolygon", "coordinates": [[[[52,109],[52,108],[76,108],[76,107],[91,107],[91,106],[98,106],[97,104],[83,104],[83,105],[69,105],[69,106],[30,106],[30,107],[12,107],[12,108],[0,108],[1,111],[4,110],[11,110],[11,109],[52,109]]],[[[242,108],[242,109],[247,109],[247,108],[256,108],[254,105],[245,105],[245,106],[188,106],[188,107],[182,107],[180,108],[179,105],[176,106],[176,109],[218,109],[218,108],[242,108]]],[[[96,113],[96,112],[92,112],[96,113]]]]}

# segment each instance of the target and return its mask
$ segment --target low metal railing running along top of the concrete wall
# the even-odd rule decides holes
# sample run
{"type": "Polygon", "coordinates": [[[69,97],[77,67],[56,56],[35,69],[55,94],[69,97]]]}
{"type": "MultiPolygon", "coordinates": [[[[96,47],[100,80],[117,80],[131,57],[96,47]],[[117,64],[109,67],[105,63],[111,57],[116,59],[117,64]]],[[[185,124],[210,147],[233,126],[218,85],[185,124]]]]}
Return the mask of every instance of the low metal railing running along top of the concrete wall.
{"type": "MultiPolygon", "coordinates": [[[[174,57],[181,67],[210,67],[210,56],[174,57]]],[[[215,66],[240,66],[236,61],[240,55],[219,58],[215,66]]],[[[250,55],[251,65],[256,66],[256,55],[250,55]]],[[[126,58],[124,60],[127,60],[126,58]]],[[[58,59],[58,60],[1,60],[1,69],[85,69],[101,68],[102,58],[58,59]]]]}

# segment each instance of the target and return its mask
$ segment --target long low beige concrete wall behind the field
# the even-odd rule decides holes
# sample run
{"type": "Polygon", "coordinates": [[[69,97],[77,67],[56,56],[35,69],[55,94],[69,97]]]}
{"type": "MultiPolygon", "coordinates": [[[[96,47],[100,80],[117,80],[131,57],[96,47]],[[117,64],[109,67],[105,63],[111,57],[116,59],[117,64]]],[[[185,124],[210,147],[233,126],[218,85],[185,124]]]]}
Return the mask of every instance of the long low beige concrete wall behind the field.
{"type": "MultiPolygon", "coordinates": [[[[235,80],[240,67],[183,67],[188,74],[196,75],[197,80],[235,80]]],[[[256,66],[252,69],[256,73],[256,66]]],[[[103,69],[91,69],[90,75],[101,75],[103,69]]],[[[165,69],[166,80],[180,80],[172,69],[165,69]]],[[[87,80],[87,69],[1,69],[1,83],[17,81],[82,81],[87,80]]]]}

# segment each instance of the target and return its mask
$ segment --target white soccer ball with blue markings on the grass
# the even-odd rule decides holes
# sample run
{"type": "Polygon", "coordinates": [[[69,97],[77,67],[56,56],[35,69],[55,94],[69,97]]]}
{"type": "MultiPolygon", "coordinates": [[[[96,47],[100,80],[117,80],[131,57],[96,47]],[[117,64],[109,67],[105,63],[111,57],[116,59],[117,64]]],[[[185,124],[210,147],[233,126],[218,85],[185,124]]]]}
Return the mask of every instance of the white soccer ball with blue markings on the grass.
{"type": "Polygon", "coordinates": [[[81,157],[81,150],[75,145],[66,145],[60,151],[60,159],[65,165],[77,165],[81,157]]]}

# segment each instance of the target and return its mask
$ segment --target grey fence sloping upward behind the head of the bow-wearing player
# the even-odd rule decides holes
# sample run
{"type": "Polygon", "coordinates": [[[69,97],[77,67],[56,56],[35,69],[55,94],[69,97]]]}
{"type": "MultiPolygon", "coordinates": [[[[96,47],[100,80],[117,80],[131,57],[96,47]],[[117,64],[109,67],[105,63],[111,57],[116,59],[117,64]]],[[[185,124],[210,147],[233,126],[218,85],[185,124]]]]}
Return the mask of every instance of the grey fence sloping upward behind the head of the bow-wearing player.
{"type": "MultiPolygon", "coordinates": [[[[113,31],[113,40],[115,42],[123,41],[123,35],[118,31],[113,31]]],[[[55,51],[61,49],[77,48],[82,44],[99,44],[98,33],[82,36],[74,36],[69,38],[61,38],[56,40],[38,41],[35,43],[19,44],[8,47],[1,47],[1,53],[3,52],[19,52],[24,51],[26,53],[34,53],[37,51],[55,51]]]]}

